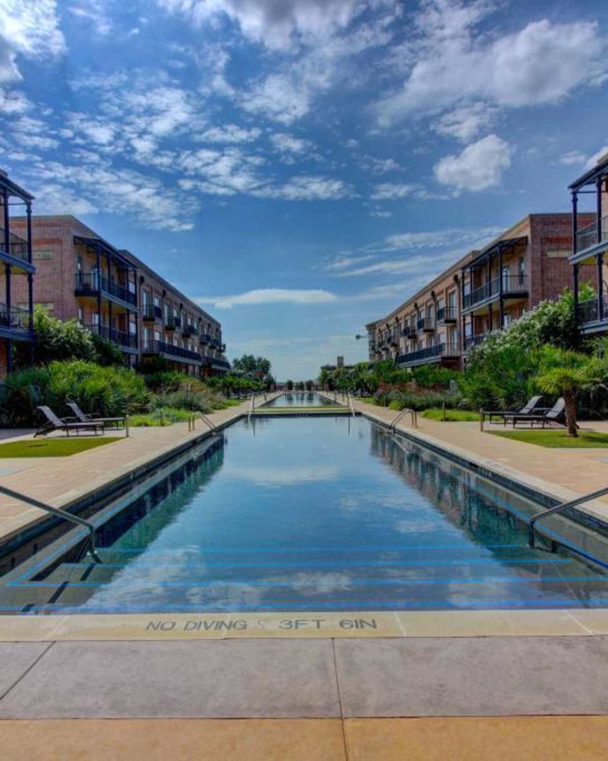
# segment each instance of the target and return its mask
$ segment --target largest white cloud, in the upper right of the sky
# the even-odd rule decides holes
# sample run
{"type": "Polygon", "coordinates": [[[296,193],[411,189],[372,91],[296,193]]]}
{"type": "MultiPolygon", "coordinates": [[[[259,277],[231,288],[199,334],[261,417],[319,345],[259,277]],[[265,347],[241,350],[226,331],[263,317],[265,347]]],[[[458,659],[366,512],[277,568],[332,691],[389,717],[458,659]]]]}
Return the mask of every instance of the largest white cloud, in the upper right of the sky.
{"type": "Polygon", "coordinates": [[[437,113],[464,98],[502,107],[555,103],[608,71],[597,23],[553,24],[543,19],[501,36],[475,34],[496,5],[427,0],[416,17],[418,39],[397,57],[404,85],[377,104],[388,126],[415,113],[437,113]]]}

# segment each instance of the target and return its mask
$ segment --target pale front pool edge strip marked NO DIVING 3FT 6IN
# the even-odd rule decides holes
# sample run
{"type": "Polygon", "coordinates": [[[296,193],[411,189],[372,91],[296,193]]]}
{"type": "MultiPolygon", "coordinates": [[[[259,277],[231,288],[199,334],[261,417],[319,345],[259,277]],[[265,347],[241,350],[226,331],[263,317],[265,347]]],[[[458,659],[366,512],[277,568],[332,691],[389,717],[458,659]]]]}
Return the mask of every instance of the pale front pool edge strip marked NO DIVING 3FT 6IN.
{"type": "Polygon", "coordinates": [[[608,635],[606,608],[0,616],[0,642],[605,635],[608,635]]]}

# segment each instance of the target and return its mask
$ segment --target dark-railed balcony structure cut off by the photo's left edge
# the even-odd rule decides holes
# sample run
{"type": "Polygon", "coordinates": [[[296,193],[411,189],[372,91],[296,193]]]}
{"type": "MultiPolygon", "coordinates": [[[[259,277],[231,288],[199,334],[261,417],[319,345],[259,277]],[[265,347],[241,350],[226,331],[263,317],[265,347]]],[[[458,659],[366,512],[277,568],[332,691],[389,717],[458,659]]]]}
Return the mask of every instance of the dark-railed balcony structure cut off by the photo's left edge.
{"type": "Polygon", "coordinates": [[[33,342],[33,275],[30,220],[33,196],[9,180],[0,170],[0,379],[11,371],[13,343],[33,342]],[[18,209],[26,217],[20,235],[15,234],[14,216],[18,209]],[[21,298],[17,303],[15,296],[21,298]]]}

